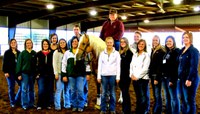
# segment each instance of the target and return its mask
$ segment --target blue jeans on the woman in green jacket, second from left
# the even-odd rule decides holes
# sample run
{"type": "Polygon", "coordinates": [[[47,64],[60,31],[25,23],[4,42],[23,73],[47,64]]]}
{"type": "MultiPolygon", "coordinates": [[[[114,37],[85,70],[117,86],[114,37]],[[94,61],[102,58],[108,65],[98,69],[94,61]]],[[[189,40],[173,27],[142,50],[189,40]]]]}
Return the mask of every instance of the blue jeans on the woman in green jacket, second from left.
{"type": "Polygon", "coordinates": [[[22,73],[22,92],[21,105],[23,108],[33,107],[34,105],[34,76],[22,73]]]}

